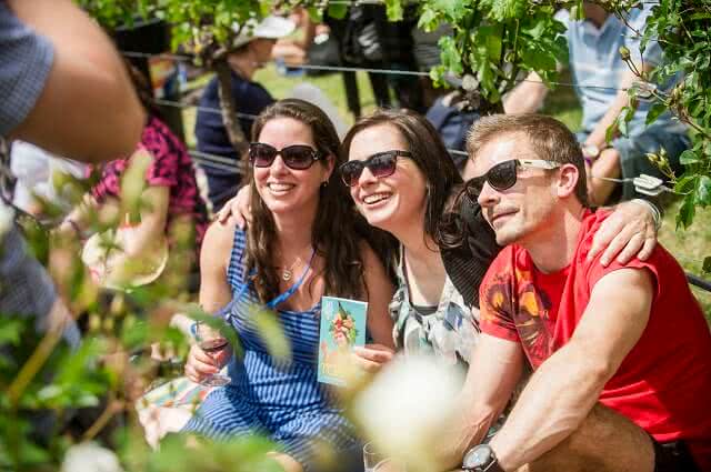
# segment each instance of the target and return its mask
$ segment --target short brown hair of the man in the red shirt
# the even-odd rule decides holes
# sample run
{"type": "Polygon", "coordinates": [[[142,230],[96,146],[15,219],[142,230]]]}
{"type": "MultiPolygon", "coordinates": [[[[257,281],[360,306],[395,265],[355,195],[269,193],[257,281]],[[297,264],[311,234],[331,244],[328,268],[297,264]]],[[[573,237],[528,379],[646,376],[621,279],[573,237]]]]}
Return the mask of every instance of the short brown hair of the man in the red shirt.
{"type": "Polygon", "coordinates": [[[469,131],[467,153],[477,159],[479,150],[502,134],[523,133],[535,155],[547,161],[573,164],[578,168],[575,197],[589,207],[585,162],[575,135],[560,121],[544,114],[492,114],[482,117],[469,131]]]}

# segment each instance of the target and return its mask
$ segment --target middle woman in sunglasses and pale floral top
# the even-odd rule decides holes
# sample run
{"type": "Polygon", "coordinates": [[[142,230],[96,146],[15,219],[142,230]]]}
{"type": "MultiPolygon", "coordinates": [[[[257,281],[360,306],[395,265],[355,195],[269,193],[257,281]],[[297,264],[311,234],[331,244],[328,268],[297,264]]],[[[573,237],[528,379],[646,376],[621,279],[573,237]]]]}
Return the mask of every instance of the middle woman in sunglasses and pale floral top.
{"type": "MultiPolygon", "coordinates": [[[[448,275],[439,238],[445,205],[462,183],[454,162],[432,125],[411,112],[383,110],[361,119],[342,149],[350,162],[341,175],[357,207],[371,225],[400,243],[398,289],[390,303],[397,347],[405,354],[433,352],[465,369],[479,333],[478,309],[448,275]]],[[[488,227],[482,232],[491,240],[488,227]]],[[[492,243],[483,257],[460,259],[483,275],[497,252],[492,243]]],[[[372,344],[357,353],[367,369],[389,356],[372,344]]]]}

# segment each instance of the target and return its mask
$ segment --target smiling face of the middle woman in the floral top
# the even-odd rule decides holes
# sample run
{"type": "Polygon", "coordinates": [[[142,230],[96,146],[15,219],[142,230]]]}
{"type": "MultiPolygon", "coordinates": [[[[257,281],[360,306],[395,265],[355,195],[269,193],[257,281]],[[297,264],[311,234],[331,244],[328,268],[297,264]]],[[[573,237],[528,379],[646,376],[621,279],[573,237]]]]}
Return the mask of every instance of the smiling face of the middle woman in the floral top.
{"type": "MultiPolygon", "coordinates": [[[[378,124],[353,135],[348,159],[364,161],[378,152],[393,150],[407,151],[409,147],[397,128],[378,124]]],[[[414,161],[399,157],[392,175],[379,179],[365,168],[350,191],[370,224],[397,235],[412,224],[423,225],[425,188],[424,175],[414,161]]]]}

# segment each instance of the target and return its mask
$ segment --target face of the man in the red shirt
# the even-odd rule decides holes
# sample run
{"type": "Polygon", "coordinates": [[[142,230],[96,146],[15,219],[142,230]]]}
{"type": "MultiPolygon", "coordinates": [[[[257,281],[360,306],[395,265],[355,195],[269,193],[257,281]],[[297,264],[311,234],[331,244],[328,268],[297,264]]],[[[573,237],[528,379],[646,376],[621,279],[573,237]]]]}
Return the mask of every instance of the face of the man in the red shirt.
{"type": "MultiPolygon", "coordinates": [[[[474,177],[483,175],[493,165],[511,159],[540,158],[524,134],[499,134],[479,149],[471,171],[474,177]]],[[[527,238],[545,228],[558,204],[554,172],[519,168],[515,184],[503,191],[484,183],[479,204],[500,245],[523,244],[527,238]]]]}

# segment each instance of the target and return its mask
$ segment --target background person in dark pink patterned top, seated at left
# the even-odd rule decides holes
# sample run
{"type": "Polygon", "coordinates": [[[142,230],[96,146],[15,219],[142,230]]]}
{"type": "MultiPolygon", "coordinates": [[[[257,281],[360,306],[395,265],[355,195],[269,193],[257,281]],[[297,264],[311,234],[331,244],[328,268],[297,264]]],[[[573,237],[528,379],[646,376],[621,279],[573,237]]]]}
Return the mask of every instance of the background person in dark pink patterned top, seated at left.
{"type": "MultiPolygon", "coordinates": [[[[152,92],[146,78],[129,66],[130,76],[139,91],[139,98],[148,111],[141,141],[128,158],[117,159],[101,167],[101,178],[83,203],[74,208],[59,227],[59,232],[84,237],[97,211],[103,218],[118,214],[121,208],[121,179],[131,162],[148,158],[147,187],[141,193],[150,208],[142,208],[140,222],[121,221],[113,240],[121,250],[111,251],[106,263],[98,263],[106,254],[100,249],[98,235],[88,241],[83,259],[90,265],[94,279],[103,285],[121,287],[127,283],[143,284],[160,275],[168,258],[168,250],[184,235],[193,232],[188,247],[197,254],[208,227],[208,213],[200,197],[192,160],[186,145],[158,117],[151,102],[152,92]],[[180,227],[179,227],[180,225],[180,227]]],[[[190,251],[188,251],[190,253],[190,251]]],[[[197,258],[193,258],[197,267],[197,258]]],[[[187,270],[191,267],[188,264],[187,270]]]]}

